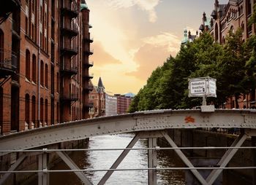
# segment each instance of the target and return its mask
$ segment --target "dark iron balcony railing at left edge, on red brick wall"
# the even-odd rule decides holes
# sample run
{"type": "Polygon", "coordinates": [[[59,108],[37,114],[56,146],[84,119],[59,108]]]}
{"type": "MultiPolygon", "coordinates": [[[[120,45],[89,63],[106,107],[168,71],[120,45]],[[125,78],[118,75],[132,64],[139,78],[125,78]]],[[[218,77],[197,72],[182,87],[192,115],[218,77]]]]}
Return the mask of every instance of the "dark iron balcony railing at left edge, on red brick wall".
{"type": "Polygon", "coordinates": [[[11,50],[4,50],[0,48],[0,69],[16,71],[17,69],[17,55],[11,50]]]}

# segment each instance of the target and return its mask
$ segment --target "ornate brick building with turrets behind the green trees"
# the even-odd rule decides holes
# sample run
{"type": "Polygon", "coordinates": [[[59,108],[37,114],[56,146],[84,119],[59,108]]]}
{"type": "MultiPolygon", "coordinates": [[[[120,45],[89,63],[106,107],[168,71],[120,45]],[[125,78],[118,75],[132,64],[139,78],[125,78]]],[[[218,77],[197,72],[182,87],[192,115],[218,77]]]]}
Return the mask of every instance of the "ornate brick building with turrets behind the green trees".
{"type": "MultiPolygon", "coordinates": [[[[255,0],[229,0],[227,4],[219,4],[215,0],[214,10],[211,18],[203,13],[203,23],[200,25],[200,31],[209,31],[214,36],[215,42],[225,44],[225,37],[229,31],[236,31],[241,28],[243,40],[246,41],[250,36],[255,35],[255,25],[248,26],[248,20],[252,15],[255,0]]],[[[238,100],[240,109],[255,108],[255,90],[247,95],[241,95],[238,100]]],[[[235,98],[229,98],[225,108],[236,108],[235,98]]]]}

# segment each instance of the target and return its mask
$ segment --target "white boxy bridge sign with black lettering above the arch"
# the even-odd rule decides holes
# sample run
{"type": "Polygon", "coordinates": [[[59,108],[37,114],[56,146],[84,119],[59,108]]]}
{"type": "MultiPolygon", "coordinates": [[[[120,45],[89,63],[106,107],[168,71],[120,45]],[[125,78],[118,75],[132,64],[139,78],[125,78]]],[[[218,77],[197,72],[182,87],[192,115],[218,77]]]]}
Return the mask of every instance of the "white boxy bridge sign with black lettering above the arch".
{"type": "Polygon", "coordinates": [[[217,97],[216,79],[200,77],[189,79],[189,97],[217,97]]]}

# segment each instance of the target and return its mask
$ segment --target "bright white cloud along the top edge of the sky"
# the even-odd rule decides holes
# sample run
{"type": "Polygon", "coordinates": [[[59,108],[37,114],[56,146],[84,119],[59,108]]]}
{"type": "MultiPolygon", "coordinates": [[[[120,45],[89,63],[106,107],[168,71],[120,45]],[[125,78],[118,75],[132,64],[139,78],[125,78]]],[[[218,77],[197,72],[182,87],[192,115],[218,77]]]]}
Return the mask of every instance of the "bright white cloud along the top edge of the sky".
{"type": "Polygon", "coordinates": [[[148,20],[151,23],[157,20],[155,7],[157,7],[159,3],[160,0],[108,0],[108,5],[116,9],[138,6],[143,11],[148,12],[148,20]]]}

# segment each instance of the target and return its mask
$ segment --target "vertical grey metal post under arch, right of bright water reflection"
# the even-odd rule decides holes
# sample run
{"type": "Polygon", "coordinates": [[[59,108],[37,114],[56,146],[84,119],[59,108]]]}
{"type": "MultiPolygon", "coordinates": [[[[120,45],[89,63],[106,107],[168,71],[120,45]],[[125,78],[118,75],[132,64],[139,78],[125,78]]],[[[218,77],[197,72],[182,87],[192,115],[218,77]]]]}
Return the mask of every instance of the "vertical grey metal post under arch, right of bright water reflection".
{"type": "MultiPolygon", "coordinates": [[[[157,138],[148,138],[148,148],[157,146],[157,138]]],[[[157,151],[155,149],[148,150],[148,168],[157,167],[157,151]]],[[[148,170],[148,185],[157,185],[157,170],[148,170]]]]}

